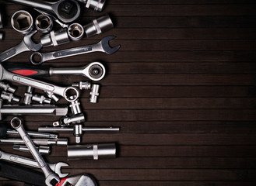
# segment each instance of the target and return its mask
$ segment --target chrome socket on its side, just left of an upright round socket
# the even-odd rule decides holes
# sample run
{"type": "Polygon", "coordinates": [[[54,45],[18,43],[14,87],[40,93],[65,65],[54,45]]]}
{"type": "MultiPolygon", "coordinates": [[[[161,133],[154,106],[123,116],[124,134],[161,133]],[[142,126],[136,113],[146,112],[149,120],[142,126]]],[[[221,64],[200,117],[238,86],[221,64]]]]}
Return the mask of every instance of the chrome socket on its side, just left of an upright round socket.
{"type": "Polygon", "coordinates": [[[40,37],[40,43],[43,45],[43,47],[58,46],[69,42],[70,40],[67,29],[51,31],[51,33],[47,33],[40,37]]]}

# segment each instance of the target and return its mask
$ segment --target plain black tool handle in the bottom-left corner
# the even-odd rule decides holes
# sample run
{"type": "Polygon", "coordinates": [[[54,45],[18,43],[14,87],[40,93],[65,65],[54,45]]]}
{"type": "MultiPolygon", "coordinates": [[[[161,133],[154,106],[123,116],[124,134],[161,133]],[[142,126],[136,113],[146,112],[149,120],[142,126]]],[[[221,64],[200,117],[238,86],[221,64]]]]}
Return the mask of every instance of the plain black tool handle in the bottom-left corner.
{"type": "Polygon", "coordinates": [[[45,186],[43,173],[0,160],[0,177],[21,181],[35,186],[45,186]]]}

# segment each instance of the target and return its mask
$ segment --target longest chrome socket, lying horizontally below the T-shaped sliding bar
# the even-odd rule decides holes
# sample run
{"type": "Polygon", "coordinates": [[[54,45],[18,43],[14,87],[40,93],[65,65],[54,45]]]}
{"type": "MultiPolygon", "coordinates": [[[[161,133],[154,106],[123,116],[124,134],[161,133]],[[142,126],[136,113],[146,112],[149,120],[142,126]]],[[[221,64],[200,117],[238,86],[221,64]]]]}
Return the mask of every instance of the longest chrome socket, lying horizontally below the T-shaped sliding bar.
{"type": "Polygon", "coordinates": [[[68,160],[115,158],[115,143],[68,146],[68,160]]]}

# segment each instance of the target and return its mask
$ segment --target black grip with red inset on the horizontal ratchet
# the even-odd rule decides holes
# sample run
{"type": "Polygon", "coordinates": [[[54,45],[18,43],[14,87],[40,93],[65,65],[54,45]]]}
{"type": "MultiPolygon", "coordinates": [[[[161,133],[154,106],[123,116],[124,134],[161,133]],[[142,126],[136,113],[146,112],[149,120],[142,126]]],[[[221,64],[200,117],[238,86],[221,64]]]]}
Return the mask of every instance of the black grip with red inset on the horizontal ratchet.
{"type": "Polygon", "coordinates": [[[4,63],[3,66],[7,71],[26,77],[49,77],[50,67],[33,67],[29,64],[4,63]]]}

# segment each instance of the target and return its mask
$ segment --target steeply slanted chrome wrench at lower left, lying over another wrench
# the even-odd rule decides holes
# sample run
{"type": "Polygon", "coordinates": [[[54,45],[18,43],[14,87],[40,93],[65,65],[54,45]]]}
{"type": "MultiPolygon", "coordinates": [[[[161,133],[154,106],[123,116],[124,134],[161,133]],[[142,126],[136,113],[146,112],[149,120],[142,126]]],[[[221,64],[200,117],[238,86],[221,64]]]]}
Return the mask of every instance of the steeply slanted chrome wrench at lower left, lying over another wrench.
{"type": "Polygon", "coordinates": [[[45,184],[52,186],[60,182],[60,178],[57,174],[51,171],[50,167],[44,161],[44,158],[38,152],[36,146],[33,144],[33,141],[30,139],[30,136],[27,135],[25,129],[23,128],[23,123],[18,117],[14,117],[11,120],[11,126],[13,129],[16,129],[23,141],[26,143],[26,146],[29,148],[30,153],[32,153],[34,159],[37,161],[38,166],[44,172],[45,184]]]}

